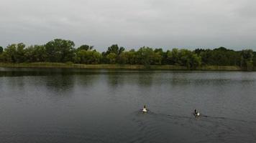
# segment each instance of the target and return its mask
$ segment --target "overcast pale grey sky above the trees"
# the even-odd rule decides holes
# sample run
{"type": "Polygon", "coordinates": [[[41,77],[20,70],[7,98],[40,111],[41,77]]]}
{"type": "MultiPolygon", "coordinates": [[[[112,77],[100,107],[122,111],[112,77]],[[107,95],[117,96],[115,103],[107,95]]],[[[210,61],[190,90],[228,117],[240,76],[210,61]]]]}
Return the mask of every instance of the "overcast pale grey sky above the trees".
{"type": "Polygon", "coordinates": [[[255,0],[1,0],[0,46],[256,50],[255,0]]]}

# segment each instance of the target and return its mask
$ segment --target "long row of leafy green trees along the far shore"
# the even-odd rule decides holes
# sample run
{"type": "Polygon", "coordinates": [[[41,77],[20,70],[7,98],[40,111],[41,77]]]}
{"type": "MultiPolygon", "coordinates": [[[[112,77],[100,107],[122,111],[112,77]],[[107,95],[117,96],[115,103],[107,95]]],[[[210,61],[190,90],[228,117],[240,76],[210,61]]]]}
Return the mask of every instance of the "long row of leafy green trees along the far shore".
{"type": "Polygon", "coordinates": [[[216,49],[153,49],[143,46],[138,50],[125,50],[113,44],[102,53],[93,46],[75,47],[73,41],[54,39],[43,45],[26,46],[23,43],[0,46],[0,62],[69,62],[76,64],[143,64],[177,65],[195,69],[198,66],[240,66],[252,70],[256,67],[256,52],[252,49],[234,51],[219,47],[216,49]]]}

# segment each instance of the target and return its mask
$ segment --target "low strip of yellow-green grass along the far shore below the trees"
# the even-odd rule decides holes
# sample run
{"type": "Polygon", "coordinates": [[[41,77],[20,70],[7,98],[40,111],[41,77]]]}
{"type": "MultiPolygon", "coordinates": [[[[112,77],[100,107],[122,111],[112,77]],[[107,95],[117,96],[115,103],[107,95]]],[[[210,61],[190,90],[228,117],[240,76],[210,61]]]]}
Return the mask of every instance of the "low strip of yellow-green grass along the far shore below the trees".
{"type": "MultiPolygon", "coordinates": [[[[65,64],[65,63],[0,63],[0,67],[31,67],[31,68],[78,68],[78,69],[165,69],[165,70],[191,70],[186,66],[173,65],[129,65],[129,64],[65,64]]],[[[194,70],[202,71],[242,71],[239,66],[202,66],[194,70]]]]}

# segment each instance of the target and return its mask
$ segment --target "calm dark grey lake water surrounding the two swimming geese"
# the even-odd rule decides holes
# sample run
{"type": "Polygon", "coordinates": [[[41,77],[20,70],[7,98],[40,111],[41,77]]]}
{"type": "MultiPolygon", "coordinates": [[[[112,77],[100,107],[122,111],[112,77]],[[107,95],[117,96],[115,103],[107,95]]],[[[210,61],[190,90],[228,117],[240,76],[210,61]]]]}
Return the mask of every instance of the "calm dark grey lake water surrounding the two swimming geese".
{"type": "Polygon", "coordinates": [[[255,104],[256,72],[0,68],[0,142],[256,142],[255,104]]]}

